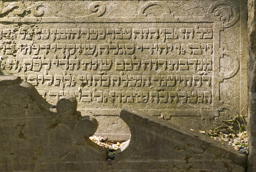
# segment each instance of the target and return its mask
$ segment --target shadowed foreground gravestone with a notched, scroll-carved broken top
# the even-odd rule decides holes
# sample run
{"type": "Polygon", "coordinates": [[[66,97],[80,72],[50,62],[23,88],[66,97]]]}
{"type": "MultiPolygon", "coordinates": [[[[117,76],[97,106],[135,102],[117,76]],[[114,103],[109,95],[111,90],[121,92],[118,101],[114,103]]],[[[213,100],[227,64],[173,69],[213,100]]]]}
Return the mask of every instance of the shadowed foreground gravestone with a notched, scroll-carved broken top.
{"type": "Polygon", "coordinates": [[[106,161],[88,137],[97,129],[72,96],[48,104],[19,77],[0,84],[0,171],[244,171],[246,154],[201,133],[124,106],[131,139],[106,161]]]}

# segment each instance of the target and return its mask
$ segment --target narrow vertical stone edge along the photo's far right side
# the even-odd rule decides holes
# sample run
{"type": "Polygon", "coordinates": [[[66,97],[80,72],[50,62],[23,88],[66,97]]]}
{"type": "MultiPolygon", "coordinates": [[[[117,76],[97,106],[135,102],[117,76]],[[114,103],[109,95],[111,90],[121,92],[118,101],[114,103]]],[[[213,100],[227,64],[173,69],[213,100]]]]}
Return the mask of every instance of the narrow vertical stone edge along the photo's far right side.
{"type": "Polygon", "coordinates": [[[248,1],[248,171],[256,171],[256,2],[248,1]]]}

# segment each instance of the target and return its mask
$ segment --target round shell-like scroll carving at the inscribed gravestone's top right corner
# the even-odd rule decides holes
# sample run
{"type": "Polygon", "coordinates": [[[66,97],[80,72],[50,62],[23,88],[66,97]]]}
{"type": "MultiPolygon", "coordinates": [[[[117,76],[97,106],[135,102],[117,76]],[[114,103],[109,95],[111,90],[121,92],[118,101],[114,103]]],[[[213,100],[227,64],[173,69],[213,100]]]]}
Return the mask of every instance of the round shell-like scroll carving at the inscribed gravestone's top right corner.
{"type": "Polygon", "coordinates": [[[233,3],[216,3],[209,8],[209,13],[215,14],[223,22],[224,28],[228,28],[239,19],[239,10],[233,3]]]}

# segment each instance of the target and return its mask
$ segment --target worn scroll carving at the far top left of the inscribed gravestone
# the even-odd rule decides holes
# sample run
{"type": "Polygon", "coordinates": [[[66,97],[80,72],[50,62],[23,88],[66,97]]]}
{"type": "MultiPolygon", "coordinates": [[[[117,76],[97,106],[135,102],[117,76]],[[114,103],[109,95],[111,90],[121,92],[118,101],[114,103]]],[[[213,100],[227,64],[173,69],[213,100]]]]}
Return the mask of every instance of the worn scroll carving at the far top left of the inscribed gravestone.
{"type": "Polygon", "coordinates": [[[8,14],[11,11],[14,11],[15,14],[21,15],[25,11],[25,6],[23,3],[19,2],[11,2],[7,6],[4,5],[3,2],[1,2],[1,7],[0,7],[0,13],[2,14],[8,14]]]}

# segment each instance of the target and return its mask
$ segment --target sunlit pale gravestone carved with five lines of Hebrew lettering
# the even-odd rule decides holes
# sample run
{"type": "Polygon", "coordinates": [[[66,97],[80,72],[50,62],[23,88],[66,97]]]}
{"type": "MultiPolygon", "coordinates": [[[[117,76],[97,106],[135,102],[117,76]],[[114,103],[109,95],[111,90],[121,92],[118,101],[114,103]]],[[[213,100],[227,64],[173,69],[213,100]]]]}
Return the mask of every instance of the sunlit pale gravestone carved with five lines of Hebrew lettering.
{"type": "Polygon", "coordinates": [[[118,117],[124,104],[196,129],[219,126],[246,104],[245,1],[0,6],[2,73],[52,104],[73,95],[100,121],[101,136],[129,137],[118,117]]]}

